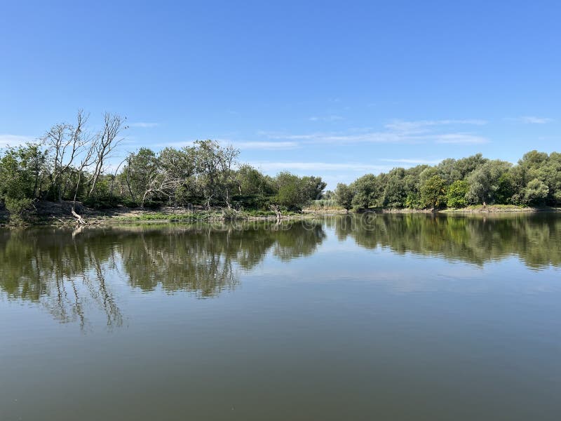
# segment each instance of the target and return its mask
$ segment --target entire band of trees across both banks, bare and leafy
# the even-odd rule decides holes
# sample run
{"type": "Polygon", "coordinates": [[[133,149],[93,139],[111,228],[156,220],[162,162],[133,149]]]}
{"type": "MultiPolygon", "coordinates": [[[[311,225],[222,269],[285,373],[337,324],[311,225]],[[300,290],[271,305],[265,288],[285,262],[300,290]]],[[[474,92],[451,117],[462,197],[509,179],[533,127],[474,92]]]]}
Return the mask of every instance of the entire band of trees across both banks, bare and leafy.
{"type": "Polygon", "coordinates": [[[160,152],[143,147],[109,171],[126,119],[107,113],[98,131],[88,130],[87,121],[80,111],[75,123],[55,124],[36,143],[0,150],[0,199],[11,215],[25,215],[37,200],[79,201],[97,208],[194,205],[263,210],[300,210],[314,199],[332,199],[348,210],[561,204],[557,152],[528,152],[516,165],[481,154],[445,159],[436,166],[363,175],[351,185],[324,192],[326,183],[318,176],[264,175],[240,163],[238,149],[212,140],[160,152]]]}

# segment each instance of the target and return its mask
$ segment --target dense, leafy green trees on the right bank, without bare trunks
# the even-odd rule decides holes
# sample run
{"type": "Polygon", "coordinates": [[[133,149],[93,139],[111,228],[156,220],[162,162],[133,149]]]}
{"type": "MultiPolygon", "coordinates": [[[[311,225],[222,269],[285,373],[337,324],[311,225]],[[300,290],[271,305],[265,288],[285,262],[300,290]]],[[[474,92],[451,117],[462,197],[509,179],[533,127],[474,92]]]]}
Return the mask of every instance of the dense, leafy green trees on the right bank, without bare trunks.
{"type": "Polygon", "coordinates": [[[561,205],[561,154],[528,152],[518,164],[481,154],[445,159],[436,166],[394,168],[367,174],[334,192],[349,210],[381,208],[464,208],[476,204],[561,205]]]}

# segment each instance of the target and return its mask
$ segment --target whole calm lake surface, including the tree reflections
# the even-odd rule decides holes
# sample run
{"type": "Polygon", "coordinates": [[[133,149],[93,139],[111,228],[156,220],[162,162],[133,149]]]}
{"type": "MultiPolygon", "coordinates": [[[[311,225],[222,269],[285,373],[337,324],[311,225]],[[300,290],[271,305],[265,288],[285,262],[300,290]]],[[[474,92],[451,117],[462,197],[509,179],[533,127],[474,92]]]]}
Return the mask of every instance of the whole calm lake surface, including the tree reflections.
{"type": "Polygon", "coordinates": [[[0,420],[560,420],[561,215],[0,230],[0,420]]]}

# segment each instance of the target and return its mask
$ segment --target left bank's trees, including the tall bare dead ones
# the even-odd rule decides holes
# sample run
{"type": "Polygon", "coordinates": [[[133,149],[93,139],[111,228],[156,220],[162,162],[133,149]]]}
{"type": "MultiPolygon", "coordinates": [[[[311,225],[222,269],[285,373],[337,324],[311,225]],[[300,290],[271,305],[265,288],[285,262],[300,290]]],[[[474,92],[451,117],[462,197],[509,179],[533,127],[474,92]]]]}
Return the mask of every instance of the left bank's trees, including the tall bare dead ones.
{"type": "Polygon", "coordinates": [[[87,121],[88,116],[79,112],[75,123],[55,124],[38,142],[0,151],[0,201],[11,218],[29,215],[38,200],[81,202],[95,208],[299,210],[320,199],[325,189],[320,177],[264,175],[239,163],[238,149],[212,140],[160,152],[141,148],[119,160],[116,148],[126,119],[105,114],[102,128],[93,132],[87,121]]]}

